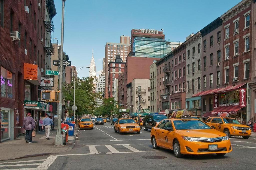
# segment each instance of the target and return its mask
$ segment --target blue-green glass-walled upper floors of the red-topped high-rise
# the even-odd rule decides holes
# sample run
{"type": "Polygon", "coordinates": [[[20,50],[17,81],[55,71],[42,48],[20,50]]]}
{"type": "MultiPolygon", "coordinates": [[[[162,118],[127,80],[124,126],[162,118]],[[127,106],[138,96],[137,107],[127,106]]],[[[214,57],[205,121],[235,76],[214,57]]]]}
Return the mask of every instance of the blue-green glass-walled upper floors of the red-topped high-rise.
{"type": "Polygon", "coordinates": [[[172,50],[170,41],[158,38],[135,37],[133,42],[133,56],[147,58],[163,58],[172,50]]]}

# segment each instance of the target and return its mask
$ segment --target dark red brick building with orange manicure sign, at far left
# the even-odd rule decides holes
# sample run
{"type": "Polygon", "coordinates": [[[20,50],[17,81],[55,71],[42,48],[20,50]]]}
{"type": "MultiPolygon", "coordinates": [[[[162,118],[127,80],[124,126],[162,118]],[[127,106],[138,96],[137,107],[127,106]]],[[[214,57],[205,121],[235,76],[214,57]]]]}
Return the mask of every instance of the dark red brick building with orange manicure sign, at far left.
{"type": "Polygon", "coordinates": [[[40,7],[36,1],[25,1],[25,5],[24,1],[0,1],[0,131],[4,129],[0,142],[17,137],[19,130],[10,127],[22,126],[26,113],[30,112],[35,119],[45,114],[46,104],[37,101],[41,74],[49,66],[45,48],[46,10],[52,21],[56,15],[53,0],[47,4],[42,0],[40,7]],[[38,109],[27,107],[26,101],[34,101],[38,109]]]}

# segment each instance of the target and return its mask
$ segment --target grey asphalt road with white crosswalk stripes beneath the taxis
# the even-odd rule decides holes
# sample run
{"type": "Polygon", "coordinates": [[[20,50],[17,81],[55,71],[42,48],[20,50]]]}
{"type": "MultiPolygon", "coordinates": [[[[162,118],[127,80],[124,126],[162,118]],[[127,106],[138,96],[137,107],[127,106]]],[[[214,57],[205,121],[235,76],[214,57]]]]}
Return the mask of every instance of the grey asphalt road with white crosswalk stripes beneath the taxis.
{"type": "Polygon", "coordinates": [[[150,130],[141,134],[114,133],[110,123],[94,125],[94,130],[81,130],[73,150],[48,155],[0,162],[0,169],[255,169],[256,138],[231,139],[233,152],[224,157],[187,155],[176,158],[173,151],[154,150],[150,130]]]}

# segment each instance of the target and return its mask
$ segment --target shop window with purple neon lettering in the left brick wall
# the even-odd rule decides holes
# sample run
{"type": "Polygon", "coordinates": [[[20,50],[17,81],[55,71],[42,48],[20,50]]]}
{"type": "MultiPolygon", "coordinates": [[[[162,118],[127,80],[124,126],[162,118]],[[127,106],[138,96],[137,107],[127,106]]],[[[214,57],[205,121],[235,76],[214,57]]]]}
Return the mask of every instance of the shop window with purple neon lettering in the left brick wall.
{"type": "Polygon", "coordinates": [[[1,97],[13,99],[13,73],[1,67],[1,97]]]}

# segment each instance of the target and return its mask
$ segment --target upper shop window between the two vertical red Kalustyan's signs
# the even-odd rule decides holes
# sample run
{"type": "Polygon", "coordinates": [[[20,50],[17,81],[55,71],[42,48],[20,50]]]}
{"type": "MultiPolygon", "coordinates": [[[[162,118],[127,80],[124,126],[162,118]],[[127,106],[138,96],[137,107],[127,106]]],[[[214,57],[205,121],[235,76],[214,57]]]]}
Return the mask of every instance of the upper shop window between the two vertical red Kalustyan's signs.
{"type": "Polygon", "coordinates": [[[220,93],[220,106],[233,103],[234,105],[239,105],[239,95],[239,90],[220,93]]]}

